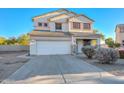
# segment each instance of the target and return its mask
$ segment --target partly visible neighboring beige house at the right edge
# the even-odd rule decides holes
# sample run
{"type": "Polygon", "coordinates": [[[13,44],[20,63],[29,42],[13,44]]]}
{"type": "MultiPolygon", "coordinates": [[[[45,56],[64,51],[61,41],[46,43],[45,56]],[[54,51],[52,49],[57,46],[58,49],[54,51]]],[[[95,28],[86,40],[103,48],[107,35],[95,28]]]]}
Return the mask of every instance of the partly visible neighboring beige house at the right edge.
{"type": "Polygon", "coordinates": [[[124,47],[124,24],[118,24],[115,28],[116,42],[120,43],[124,47]]]}

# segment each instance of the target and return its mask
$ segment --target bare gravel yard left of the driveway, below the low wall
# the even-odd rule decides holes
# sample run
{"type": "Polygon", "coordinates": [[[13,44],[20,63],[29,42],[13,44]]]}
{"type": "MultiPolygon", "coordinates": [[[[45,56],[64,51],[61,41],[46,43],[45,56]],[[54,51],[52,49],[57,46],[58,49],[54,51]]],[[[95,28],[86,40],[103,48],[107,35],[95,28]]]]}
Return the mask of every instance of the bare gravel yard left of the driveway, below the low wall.
{"type": "Polygon", "coordinates": [[[0,82],[9,77],[29,60],[28,57],[19,57],[26,53],[26,51],[0,52],[0,82]]]}

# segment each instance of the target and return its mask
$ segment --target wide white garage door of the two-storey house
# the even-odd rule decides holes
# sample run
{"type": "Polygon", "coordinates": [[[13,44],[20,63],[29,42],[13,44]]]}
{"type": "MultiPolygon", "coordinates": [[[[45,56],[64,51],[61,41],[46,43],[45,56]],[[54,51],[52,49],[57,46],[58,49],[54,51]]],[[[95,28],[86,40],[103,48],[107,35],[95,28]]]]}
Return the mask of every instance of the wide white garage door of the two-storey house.
{"type": "Polygon", "coordinates": [[[55,55],[70,53],[70,41],[37,41],[37,55],[55,55]]]}

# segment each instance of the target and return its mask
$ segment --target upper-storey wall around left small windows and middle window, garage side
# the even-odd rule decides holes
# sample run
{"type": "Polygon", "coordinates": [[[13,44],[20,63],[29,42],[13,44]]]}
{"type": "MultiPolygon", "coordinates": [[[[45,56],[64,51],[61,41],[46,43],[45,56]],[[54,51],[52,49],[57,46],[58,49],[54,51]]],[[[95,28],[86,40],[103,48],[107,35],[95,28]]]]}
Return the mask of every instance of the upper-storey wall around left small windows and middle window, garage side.
{"type": "Polygon", "coordinates": [[[69,30],[68,23],[66,21],[66,18],[69,17],[69,16],[62,15],[58,18],[53,18],[53,19],[51,19],[51,21],[49,21],[48,18],[50,18],[50,17],[53,17],[53,15],[52,16],[47,16],[47,17],[44,17],[44,18],[36,19],[34,21],[35,29],[36,30],[49,30],[49,31],[52,31],[52,32],[54,32],[54,31],[67,32],[69,30]],[[38,22],[48,23],[48,27],[39,27],[38,22]],[[55,23],[62,23],[62,30],[56,30],[55,29],[55,23]]]}

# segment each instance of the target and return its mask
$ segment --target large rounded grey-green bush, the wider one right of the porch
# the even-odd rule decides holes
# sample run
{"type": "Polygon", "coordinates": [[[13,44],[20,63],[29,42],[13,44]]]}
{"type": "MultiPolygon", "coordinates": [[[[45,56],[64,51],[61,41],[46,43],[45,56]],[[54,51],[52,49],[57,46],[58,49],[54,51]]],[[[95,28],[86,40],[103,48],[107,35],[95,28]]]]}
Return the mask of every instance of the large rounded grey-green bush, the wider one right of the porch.
{"type": "Polygon", "coordinates": [[[98,48],[96,59],[102,64],[115,63],[119,58],[119,52],[113,48],[98,48]]]}

